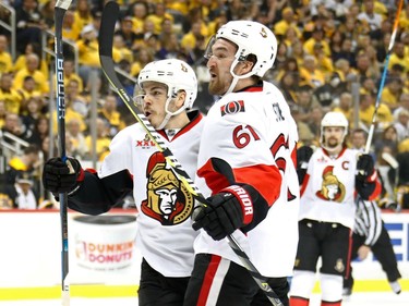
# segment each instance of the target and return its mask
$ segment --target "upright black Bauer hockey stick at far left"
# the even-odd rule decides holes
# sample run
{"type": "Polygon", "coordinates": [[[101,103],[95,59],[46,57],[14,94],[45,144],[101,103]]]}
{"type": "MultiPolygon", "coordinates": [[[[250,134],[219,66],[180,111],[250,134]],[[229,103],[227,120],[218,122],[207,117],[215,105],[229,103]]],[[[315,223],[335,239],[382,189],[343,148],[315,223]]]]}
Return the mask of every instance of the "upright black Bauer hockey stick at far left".
{"type": "MultiPolygon", "coordinates": [[[[63,161],[67,161],[65,155],[65,102],[64,102],[64,73],[63,73],[63,53],[62,53],[62,22],[64,14],[72,0],[57,0],[55,7],[55,50],[56,50],[56,100],[57,100],[57,121],[58,121],[58,146],[59,154],[63,161]]],[[[61,298],[62,305],[70,305],[70,284],[69,274],[69,246],[68,246],[68,196],[67,193],[60,193],[60,221],[61,221],[61,298]]]]}

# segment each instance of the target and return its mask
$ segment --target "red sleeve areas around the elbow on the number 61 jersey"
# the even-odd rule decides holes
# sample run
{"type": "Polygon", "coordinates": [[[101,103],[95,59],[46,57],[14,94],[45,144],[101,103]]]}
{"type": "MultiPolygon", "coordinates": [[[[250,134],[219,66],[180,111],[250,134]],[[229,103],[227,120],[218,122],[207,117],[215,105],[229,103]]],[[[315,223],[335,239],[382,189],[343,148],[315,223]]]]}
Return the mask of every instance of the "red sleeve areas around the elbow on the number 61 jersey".
{"type": "MultiPolygon", "coordinates": [[[[269,206],[279,197],[281,174],[276,166],[254,164],[236,168],[232,171],[236,183],[252,185],[269,206]]],[[[210,160],[197,170],[197,175],[205,179],[207,186],[212,189],[212,195],[231,185],[221,173],[213,169],[210,160]]]]}

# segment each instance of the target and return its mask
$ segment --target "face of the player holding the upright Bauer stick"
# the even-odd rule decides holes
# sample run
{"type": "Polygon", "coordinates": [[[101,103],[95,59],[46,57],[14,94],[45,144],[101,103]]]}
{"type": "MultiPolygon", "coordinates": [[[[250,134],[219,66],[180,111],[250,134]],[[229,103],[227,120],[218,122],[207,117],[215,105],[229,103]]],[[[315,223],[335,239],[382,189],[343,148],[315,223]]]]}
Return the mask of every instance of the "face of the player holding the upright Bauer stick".
{"type": "Polygon", "coordinates": [[[151,124],[157,128],[166,115],[165,105],[168,95],[168,87],[157,82],[144,82],[143,93],[136,98],[136,103],[149,120],[151,124]]]}

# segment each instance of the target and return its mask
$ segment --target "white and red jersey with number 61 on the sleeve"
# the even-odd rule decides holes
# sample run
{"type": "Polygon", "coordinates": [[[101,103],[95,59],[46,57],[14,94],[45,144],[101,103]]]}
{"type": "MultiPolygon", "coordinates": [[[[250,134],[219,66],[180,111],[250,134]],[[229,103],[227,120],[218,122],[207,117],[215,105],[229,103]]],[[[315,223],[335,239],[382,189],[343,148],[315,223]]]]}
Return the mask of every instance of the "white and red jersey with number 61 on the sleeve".
{"type": "MultiPolygon", "coordinates": [[[[205,174],[196,185],[204,195],[229,185],[216,171],[204,171],[212,158],[219,158],[230,164],[236,182],[255,187],[270,206],[254,229],[233,233],[265,277],[292,273],[298,245],[299,183],[292,159],[297,142],[297,125],[282,94],[266,82],[224,96],[207,113],[203,128],[197,170],[205,174]]],[[[242,265],[227,238],[214,241],[204,230],[195,250],[242,265]]]]}

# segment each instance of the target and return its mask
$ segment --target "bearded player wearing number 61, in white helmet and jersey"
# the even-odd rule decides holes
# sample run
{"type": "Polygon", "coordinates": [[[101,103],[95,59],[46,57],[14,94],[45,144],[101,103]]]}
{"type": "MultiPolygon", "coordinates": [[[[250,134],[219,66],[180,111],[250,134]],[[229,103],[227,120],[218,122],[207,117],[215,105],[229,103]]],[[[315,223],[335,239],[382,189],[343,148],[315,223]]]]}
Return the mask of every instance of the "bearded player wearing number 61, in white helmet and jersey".
{"type": "Polygon", "coordinates": [[[297,125],[280,90],[263,82],[277,40],[264,25],[233,21],[207,46],[209,93],[196,184],[207,206],[196,208],[195,265],[185,306],[270,305],[228,245],[232,234],[288,305],[287,277],[298,242],[297,125]]]}

